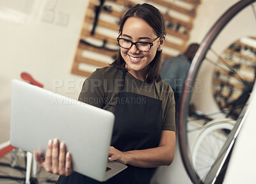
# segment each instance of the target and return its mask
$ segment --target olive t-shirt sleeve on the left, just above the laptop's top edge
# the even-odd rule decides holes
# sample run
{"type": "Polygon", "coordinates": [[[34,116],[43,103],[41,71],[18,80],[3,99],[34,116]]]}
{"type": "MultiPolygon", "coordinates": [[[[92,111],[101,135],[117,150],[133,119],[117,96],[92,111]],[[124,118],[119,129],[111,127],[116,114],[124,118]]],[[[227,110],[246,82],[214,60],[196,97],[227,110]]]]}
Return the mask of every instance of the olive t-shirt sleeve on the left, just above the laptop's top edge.
{"type": "Polygon", "coordinates": [[[84,81],[78,100],[103,108],[105,103],[104,85],[104,71],[97,69],[84,81]]]}

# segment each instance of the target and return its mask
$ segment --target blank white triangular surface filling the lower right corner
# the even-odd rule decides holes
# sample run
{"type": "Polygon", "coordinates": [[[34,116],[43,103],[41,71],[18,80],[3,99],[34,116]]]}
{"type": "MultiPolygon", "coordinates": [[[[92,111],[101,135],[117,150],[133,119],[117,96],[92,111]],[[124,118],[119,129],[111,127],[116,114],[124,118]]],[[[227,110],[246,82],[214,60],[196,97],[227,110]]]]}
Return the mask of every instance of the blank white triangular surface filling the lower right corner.
{"type": "Polygon", "coordinates": [[[255,146],[255,112],[256,112],[256,86],[253,86],[253,92],[248,100],[248,114],[244,114],[243,126],[237,135],[230,161],[223,183],[256,183],[255,164],[256,164],[256,146],[255,146]],[[241,173],[241,171],[243,173],[241,173]]]}

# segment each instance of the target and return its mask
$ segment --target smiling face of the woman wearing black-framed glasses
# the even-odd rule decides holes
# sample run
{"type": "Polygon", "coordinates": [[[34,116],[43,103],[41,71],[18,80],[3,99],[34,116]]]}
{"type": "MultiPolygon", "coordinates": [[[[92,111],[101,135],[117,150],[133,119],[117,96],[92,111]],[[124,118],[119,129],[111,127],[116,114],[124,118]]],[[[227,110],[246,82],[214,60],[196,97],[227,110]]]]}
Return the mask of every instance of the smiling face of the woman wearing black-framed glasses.
{"type": "MultiPolygon", "coordinates": [[[[130,17],[125,21],[120,38],[125,38],[131,42],[153,43],[157,39],[157,36],[154,29],[147,22],[138,17],[130,17]]],[[[147,65],[156,56],[157,49],[162,49],[163,42],[164,36],[161,40],[158,39],[157,42],[154,42],[154,45],[147,52],[138,50],[136,45],[132,45],[130,49],[121,47],[121,56],[126,63],[128,72],[143,81],[145,79],[147,65]]]]}

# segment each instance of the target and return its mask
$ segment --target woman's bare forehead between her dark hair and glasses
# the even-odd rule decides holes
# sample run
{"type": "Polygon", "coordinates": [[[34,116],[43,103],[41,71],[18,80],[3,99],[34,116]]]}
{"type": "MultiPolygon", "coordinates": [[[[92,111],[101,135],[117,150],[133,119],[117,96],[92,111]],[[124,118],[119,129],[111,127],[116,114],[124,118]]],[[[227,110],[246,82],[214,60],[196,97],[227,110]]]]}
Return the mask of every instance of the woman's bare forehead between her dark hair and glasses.
{"type": "Polygon", "coordinates": [[[154,29],[145,20],[138,17],[130,17],[125,21],[122,34],[127,34],[132,38],[156,38],[154,29]]]}

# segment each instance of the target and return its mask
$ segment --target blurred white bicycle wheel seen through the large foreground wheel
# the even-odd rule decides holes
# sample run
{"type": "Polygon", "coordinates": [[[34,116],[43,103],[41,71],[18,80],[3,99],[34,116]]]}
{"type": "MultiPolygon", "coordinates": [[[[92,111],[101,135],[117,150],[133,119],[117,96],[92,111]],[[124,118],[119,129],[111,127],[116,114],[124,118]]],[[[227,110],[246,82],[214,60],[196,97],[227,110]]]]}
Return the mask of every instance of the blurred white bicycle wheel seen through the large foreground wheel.
{"type": "Polygon", "coordinates": [[[196,137],[192,149],[192,162],[201,180],[209,173],[235,123],[236,121],[228,118],[214,119],[205,124],[196,137]]]}

